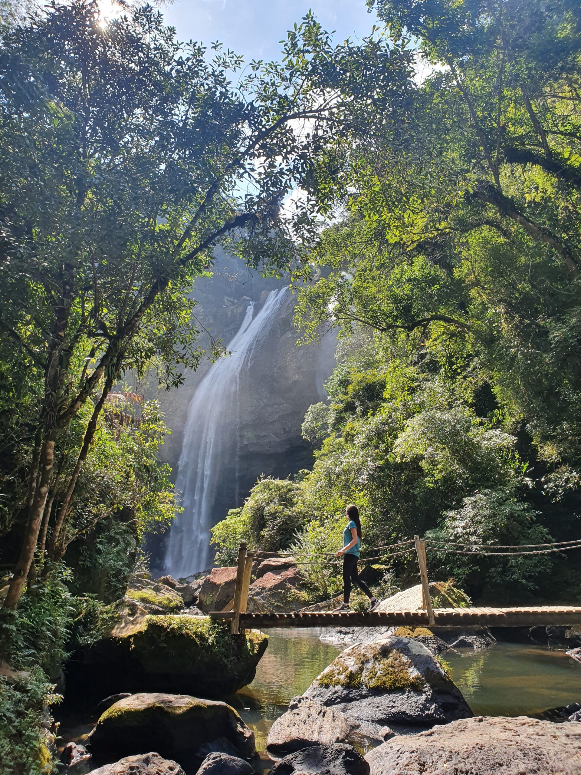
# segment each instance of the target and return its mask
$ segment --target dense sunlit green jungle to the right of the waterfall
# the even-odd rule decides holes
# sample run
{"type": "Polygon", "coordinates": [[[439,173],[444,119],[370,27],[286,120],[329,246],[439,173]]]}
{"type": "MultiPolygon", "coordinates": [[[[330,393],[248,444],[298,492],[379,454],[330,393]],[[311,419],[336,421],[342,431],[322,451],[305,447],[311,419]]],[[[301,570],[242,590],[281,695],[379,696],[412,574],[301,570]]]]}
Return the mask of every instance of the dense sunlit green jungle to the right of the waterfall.
{"type": "MultiPolygon", "coordinates": [[[[371,5],[419,46],[418,75],[395,121],[318,160],[319,188],[342,171],[343,215],[297,284],[302,340],[340,332],[329,400],[303,426],[315,465],[259,481],[216,526],[225,560],[242,537],[332,550],[350,501],[367,547],[579,537],[579,5],[371,5]]],[[[428,553],[431,574],[490,602],[578,599],[579,560],[428,553]]],[[[411,581],[413,558],[392,563],[411,581]]],[[[339,588],[304,573],[320,597],[339,588]]]]}

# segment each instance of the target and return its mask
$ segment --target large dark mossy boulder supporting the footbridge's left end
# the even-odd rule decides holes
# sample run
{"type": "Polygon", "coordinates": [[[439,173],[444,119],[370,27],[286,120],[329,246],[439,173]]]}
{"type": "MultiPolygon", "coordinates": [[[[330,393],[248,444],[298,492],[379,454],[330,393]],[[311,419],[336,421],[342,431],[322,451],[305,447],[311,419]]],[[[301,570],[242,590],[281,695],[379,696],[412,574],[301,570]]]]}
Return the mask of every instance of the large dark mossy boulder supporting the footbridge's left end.
{"type": "Polygon", "coordinates": [[[136,615],[75,655],[70,685],[101,697],[119,690],[223,697],[253,680],[267,644],[263,632],[233,636],[206,616],[136,615]]]}

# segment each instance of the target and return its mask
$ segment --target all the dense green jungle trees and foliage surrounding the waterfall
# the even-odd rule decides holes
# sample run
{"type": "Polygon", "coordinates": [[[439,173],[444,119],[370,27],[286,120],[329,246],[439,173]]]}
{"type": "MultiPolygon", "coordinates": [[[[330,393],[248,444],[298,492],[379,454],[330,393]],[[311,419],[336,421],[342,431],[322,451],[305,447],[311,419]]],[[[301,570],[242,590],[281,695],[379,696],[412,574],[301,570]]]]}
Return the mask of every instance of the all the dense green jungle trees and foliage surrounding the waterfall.
{"type": "MultiPolygon", "coordinates": [[[[308,15],[250,65],[151,6],[0,6],[2,773],[50,772],[67,653],[179,508],[160,407],[125,379],[179,387],[220,354],[189,296],[214,246],[292,278],[305,346],[340,332],[313,469],[261,480],[218,562],[242,538],[335,548],[351,501],[368,547],[579,537],[581,9],[370,5],[369,38],[308,15]]],[[[496,602],[578,599],[579,561],[430,557],[496,602]]]]}

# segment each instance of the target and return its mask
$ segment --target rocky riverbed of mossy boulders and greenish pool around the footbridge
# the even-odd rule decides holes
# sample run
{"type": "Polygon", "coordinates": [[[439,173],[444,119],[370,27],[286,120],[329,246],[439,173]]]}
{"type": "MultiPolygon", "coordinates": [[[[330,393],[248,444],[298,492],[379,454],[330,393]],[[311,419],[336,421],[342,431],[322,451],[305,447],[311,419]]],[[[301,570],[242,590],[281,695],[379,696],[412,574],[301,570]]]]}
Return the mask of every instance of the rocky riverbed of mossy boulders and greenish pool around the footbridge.
{"type": "MultiPolygon", "coordinates": [[[[287,605],[283,601],[296,595],[295,571],[287,560],[257,563],[253,605],[261,605],[264,594],[270,605],[277,595],[287,605]]],[[[542,759],[548,767],[543,772],[581,772],[581,763],[574,769],[581,756],[579,714],[541,714],[534,722],[504,718],[579,707],[581,664],[576,654],[566,654],[567,646],[579,647],[579,633],[535,632],[534,640],[526,633],[525,645],[497,643],[486,629],[365,630],[363,642],[357,629],[285,630],[273,632],[267,649],[263,633],[230,636],[201,611],[227,605],[232,580],[232,569],[187,583],[132,579],[102,638],[71,663],[69,687],[84,675],[85,700],[99,702],[84,735],[67,735],[64,723],[69,745],[62,771],[250,775],[272,767],[273,775],[444,775],[449,763],[459,775],[488,775],[496,773],[497,761],[507,773],[528,775],[540,771],[542,759]],[[551,650],[549,639],[560,650],[551,650]],[[486,706],[491,676],[497,704],[486,706]],[[519,692],[522,701],[515,704],[519,692]],[[487,718],[473,718],[483,711],[487,718]],[[553,717],[563,723],[545,720],[553,717]],[[538,740],[528,747],[533,727],[538,740]],[[462,739],[473,740],[476,753],[462,739]],[[484,752],[480,758],[478,751],[484,752]],[[573,769],[558,769],[564,753],[573,769]],[[464,764],[472,769],[462,770],[464,764]]],[[[418,590],[406,594],[412,600],[418,590]]],[[[393,598],[382,605],[401,607],[393,598]]]]}

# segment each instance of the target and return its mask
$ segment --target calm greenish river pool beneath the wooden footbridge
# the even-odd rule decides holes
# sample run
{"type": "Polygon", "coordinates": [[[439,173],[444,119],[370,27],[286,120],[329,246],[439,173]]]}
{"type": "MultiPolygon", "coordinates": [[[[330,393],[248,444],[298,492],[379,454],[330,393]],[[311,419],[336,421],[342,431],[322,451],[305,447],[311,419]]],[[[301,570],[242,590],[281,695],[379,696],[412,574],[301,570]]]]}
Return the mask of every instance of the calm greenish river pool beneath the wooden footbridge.
{"type": "MultiPolygon", "coordinates": [[[[256,737],[261,752],[257,769],[266,773],[272,762],[266,737],[273,721],[287,710],[342,651],[319,640],[320,629],[272,629],[266,653],[252,684],[225,698],[256,737]]],[[[581,702],[581,664],[562,651],[532,644],[498,642],[483,652],[445,653],[452,677],[475,715],[535,715],[547,708],[581,702]]],[[[88,715],[69,708],[60,718],[64,742],[83,742],[91,729],[88,715]],[[72,711],[72,713],[71,713],[72,711]]],[[[55,715],[60,716],[58,709],[55,715]]],[[[95,762],[97,765],[97,762],[95,762]]]]}

